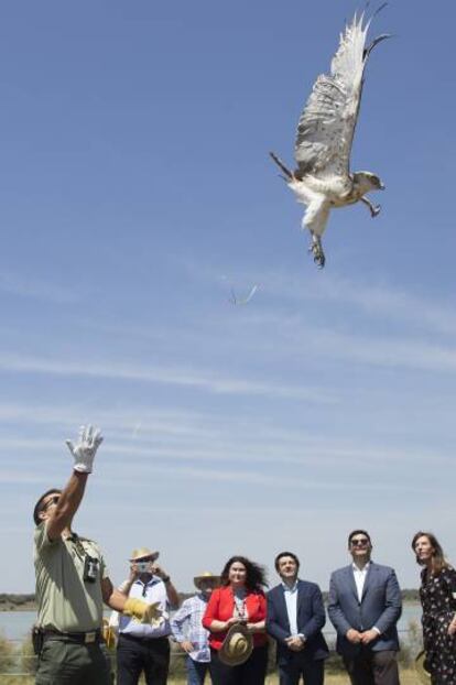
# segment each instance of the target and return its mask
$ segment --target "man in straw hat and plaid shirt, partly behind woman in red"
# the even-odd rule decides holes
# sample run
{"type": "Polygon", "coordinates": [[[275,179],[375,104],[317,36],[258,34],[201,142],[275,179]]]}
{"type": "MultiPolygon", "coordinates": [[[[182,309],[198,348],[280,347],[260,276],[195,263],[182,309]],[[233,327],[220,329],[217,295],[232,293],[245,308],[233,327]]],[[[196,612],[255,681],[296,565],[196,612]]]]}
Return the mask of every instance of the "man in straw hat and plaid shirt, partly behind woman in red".
{"type": "Polygon", "coordinates": [[[209,670],[209,631],[203,628],[202,619],[207,601],[220,577],[206,570],[193,579],[197,592],[186,599],[171,621],[171,630],[176,642],[186,653],[185,666],[187,685],[203,685],[209,670]]]}

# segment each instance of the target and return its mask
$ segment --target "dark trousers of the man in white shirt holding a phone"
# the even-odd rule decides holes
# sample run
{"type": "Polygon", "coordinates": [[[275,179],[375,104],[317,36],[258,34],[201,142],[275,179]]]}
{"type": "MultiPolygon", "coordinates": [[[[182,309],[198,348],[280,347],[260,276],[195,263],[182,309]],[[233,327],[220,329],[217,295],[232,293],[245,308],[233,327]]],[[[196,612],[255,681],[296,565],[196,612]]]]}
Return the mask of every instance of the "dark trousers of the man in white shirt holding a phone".
{"type": "Polygon", "coordinates": [[[142,672],[146,685],[166,685],[169,668],[167,638],[144,640],[120,633],[117,645],[117,685],[138,685],[142,672]]]}

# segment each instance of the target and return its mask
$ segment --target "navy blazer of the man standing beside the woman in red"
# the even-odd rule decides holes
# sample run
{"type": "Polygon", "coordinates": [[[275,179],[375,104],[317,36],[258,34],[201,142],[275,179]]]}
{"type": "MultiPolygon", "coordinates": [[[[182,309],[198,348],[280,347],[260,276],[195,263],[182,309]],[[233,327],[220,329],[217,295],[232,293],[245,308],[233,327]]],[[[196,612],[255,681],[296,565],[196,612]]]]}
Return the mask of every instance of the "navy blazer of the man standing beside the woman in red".
{"type": "Polygon", "coordinates": [[[293,652],[285,643],[285,638],[290,638],[291,632],[283,585],[272,588],[268,592],[265,628],[276,640],[279,664],[286,664],[296,659],[296,655],[304,660],[326,659],[328,646],[322,634],[322,628],[326,622],[325,607],[319,587],[315,583],[297,581],[296,621],[297,632],[306,640],[302,652],[293,652]]]}

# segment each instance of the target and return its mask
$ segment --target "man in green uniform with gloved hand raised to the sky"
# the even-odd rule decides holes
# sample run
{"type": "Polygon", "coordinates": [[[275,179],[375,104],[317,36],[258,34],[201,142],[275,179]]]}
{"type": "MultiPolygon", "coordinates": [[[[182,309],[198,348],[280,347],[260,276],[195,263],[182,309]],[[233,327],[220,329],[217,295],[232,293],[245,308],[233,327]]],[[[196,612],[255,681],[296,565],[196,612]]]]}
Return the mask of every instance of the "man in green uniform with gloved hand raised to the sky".
{"type": "Polygon", "coordinates": [[[98,545],[72,532],[101,441],[93,426],[82,427],[76,445],[66,441],[75,460],[72,476],[63,490],[53,488],[42,494],[33,511],[36,685],[110,685],[100,649],[104,601],[138,621],[162,620],[155,605],[127,599],[115,590],[98,545]]]}

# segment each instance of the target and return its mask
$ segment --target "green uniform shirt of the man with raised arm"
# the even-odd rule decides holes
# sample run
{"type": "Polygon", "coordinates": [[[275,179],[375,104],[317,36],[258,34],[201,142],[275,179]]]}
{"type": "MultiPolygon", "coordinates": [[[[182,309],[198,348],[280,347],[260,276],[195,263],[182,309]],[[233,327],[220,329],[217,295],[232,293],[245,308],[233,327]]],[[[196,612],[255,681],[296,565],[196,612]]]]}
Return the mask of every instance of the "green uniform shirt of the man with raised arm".
{"type": "Polygon", "coordinates": [[[62,632],[88,632],[100,628],[102,620],[101,579],[108,577],[101,552],[91,540],[74,534],[67,540],[51,541],[46,522],[35,531],[34,563],[36,576],[37,626],[62,632]],[[95,583],[84,580],[85,555],[99,561],[95,583]]]}

